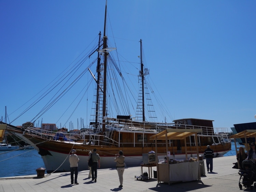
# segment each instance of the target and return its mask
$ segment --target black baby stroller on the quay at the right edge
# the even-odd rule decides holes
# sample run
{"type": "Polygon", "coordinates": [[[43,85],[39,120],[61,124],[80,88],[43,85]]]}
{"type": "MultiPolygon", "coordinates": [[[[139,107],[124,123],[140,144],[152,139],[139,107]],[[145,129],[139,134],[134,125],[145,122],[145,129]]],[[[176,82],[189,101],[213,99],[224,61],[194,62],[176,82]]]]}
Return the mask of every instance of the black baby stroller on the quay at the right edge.
{"type": "MultiPolygon", "coordinates": [[[[240,175],[239,179],[239,188],[242,189],[242,184],[245,188],[253,189],[252,184],[256,181],[255,177],[255,163],[250,160],[244,160],[242,162],[242,169],[239,170],[238,174],[240,175]],[[241,184],[242,179],[242,184],[241,184]]],[[[256,188],[256,183],[254,183],[254,187],[256,188]]]]}

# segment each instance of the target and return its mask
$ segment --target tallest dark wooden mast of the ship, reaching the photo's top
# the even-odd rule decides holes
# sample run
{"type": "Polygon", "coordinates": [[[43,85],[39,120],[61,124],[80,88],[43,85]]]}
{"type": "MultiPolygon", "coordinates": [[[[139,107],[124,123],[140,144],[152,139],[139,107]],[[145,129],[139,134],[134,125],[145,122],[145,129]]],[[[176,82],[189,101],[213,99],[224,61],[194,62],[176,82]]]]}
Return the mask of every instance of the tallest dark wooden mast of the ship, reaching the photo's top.
{"type": "MultiPolygon", "coordinates": [[[[107,2],[106,2],[107,3],[107,2]]],[[[106,4],[107,6],[107,4],[106,4]]],[[[104,20],[104,36],[103,36],[103,52],[104,52],[104,77],[103,77],[103,108],[102,108],[102,132],[105,132],[105,116],[106,116],[106,70],[107,70],[107,37],[106,37],[106,7],[104,20]]]]}

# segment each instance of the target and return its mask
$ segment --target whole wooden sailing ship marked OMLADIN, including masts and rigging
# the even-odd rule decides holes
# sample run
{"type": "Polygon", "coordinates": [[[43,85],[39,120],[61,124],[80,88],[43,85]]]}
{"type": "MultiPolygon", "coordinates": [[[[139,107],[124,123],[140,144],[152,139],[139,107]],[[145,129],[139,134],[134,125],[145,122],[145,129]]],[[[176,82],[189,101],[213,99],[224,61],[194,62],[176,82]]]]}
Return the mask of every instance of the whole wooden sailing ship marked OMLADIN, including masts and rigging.
{"type": "MultiPolygon", "coordinates": [[[[115,59],[112,58],[112,51],[115,50],[115,48],[111,48],[108,45],[108,37],[106,35],[106,8],[107,6],[105,6],[103,38],[100,32],[97,46],[85,57],[90,58],[93,57],[93,55],[97,55],[96,59],[92,62],[92,64],[97,63],[97,77],[95,77],[90,70],[92,64],[85,70],[91,74],[96,85],[95,114],[93,115],[93,120],[89,123],[89,128],[83,129],[80,134],[64,133],[61,131],[45,132],[42,129],[35,128],[33,123],[31,123],[31,126],[22,128],[6,124],[6,129],[23,138],[27,143],[38,150],[44,161],[47,173],[69,171],[70,165],[68,156],[72,149],[76,150],[76,154],[80,158],[79,171],[88,169],[88,152],[93,149],[97,149],[97,153],[100,155],[100,168],[115,167],[113,159],[119,150],[122,150],[126,157],[125,166],[139,166],[142,163],[143,153],[152,152],[155,149],[155,141],[151,141],[150,137],[165,129],[202,130],[202,132],[198,134],[197,140],[195,135],[190,136],[186,142],[183,140],[170,140],[168,149],[171,159],[185,159],[185,145],[187,146],[187,150],[195,151],[195,141],[198,141],[199,154],[201,155],[207,145],[213,146],[215,157],[228,152],[231,149],[230,142],[222,142],[223,135],[220,136],[217,134],[218,130],[213,128],[212,120],[179,119],[174,120],[174,123],[160,123],[146,120],[145,100],[147,100],[147,98],[144,96],[144,90],[146,89],[144,86],[146,85],[145,76],[149,72],[148,69],[144,69],[143,65],[142,40],[140,40],[141,66],[139,71],[141,89],[137,103],[136,119],[132,118],[129,110],[128,112],[124,112],[125,110],[123,109],[128,108],[127,103],[125,103],[121,110],[118,108],[121,104],[115,104],[114,107],[110,107],[110,104],[115,103],[119,98],[123,100],[123,102],[127,102],[131,98],[127,96],[129,89],[119,91],[120,86],[117,85],[117,83],[120,82],[122,82],[123,85],[127,85],[127,83],[124,80],[122,70],[119,69],[119,64],[116,64],[115,59]],[[119,76],[113,73],[114,68],[117,70],[119,76]],[[111,74],[113,74],[114,77],[110,77],[111,74]],[[117,78],[121,80],[118,81],[117,78]],[[115,83],[111,83],[112,80],[116,80],[115,83]],[[114,93],[111,94],[109,90],[114,93]],[[117,112],[115,112],[115,109],[117,109],[117,112]]],[[[79,65],[79,67],[81,67],[81,65],[79,65]]],[[[58,98],[60,97],[62,96],[58,96],[58,98]]],[[[52,105],[57,100],[58,99],[49,103],[52,105]]],[[[47,109],[49,107],[50,105],[46,106],[47,109]]],[[[46,108],[42,109],[41,112],[45,112],[46,108]]],[[[33,122],[35,122],[35,120],[33,122]]],[[[4,124],[3,122],[0,123],[4,124]]],[[[223,131],[222,128],[221,132],[227,131],[223,131]]],[[[166,143],[157,141],[157,145],[158,153],[163,153],[158,159],[162,159],[166,151],[166,143]]],[[[196,156],[194,153],[189,155],[191,157],[196,156]]]]}

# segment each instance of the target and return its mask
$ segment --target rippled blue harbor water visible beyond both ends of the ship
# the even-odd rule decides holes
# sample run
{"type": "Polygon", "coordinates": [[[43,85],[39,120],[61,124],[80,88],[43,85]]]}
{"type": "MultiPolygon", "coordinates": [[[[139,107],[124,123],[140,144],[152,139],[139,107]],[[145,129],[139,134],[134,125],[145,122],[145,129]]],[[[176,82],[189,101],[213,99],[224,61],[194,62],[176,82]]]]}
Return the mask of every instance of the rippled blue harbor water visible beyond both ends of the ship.
{"type": "MultiPolygon", "coordinates": [[[[227,152],[224,157],[235,155],[236,150],[232,143],[231,151],[227,152]]],[[[234,161],[236,161],[235,157],[234,161]]],[[[0,151],[0,166],[0,177],[37,175],[37,172],[35,171],[36,169],[40,167],[45,168],[41,156],[35,149],[0,151]]]]}

